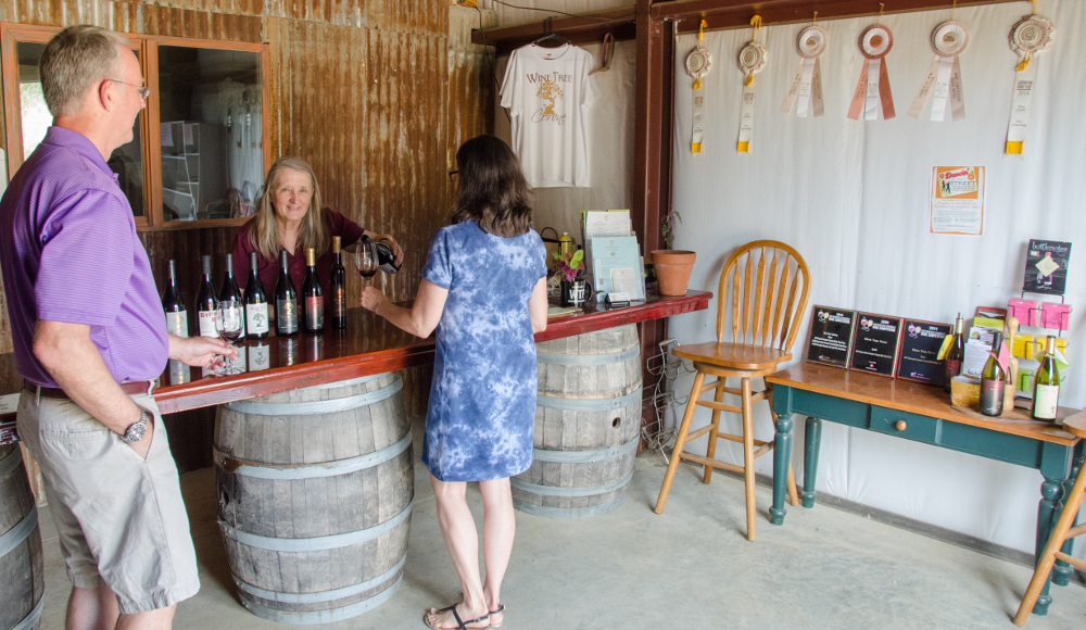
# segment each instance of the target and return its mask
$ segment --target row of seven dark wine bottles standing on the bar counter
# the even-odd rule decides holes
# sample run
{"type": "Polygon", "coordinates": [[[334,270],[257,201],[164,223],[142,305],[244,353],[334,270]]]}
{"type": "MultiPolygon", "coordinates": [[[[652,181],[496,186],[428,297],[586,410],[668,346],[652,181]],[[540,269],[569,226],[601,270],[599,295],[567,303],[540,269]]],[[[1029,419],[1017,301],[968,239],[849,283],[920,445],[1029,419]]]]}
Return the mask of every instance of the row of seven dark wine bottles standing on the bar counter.
{"type": "MultiPolygon", "coordinates": [[[[329,278],[331,293],[330,324],[336,328],[346,327],[346,269],[340,250],[340,237],[332,237],[332,266],[329,278]]],[[[290,278],[287,251],[279,253],[279,279],[273,300],[268,300],[257,272],[257,254],[249,254],[249,280],[245,291],[238,289],[233,278],[233,255],[226,254],[226,274],[218,291],[211,278],[211,256],[201,256],[202,279],[197,292],[197,325],[201,337],[219,337],[215,329],[219,302],[243,303],[245,308],[245,337],[265,339],[275,317],[278,336],[293,335],[299,328],[306,332],[320,332],[325,328],[325,299],[317,279],[316,254],[313,248],[305,250],[305,279],[301,293],[290,278]]],[[[166,330],[178,337],[189,336],[189,315],[177,290],[177,264],[169,261],[166,276],[166,291],[162,297],[162,307],[166,312],[166,330]]]]}

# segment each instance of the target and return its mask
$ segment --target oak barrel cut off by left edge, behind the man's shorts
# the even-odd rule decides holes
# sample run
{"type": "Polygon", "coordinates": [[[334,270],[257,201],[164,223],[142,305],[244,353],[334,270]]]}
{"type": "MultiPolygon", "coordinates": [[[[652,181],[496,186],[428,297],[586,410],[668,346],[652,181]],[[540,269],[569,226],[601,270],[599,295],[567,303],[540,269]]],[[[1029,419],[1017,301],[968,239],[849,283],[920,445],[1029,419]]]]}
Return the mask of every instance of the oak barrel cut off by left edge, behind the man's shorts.
{"type": "Polygon", "coordinates": [[[45,593],[38,509],[18,444],[0,446],[0,628],[37,629],[45,593]]]}

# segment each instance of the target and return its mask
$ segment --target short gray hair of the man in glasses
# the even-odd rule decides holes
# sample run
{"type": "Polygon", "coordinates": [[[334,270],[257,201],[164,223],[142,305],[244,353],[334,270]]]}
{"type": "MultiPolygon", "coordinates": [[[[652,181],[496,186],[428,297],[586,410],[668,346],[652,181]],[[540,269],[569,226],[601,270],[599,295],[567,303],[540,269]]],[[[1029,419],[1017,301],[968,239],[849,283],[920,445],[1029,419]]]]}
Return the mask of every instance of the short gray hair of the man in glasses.
{"type": "Polygon", "coordinates": [[[53,116],[74,116],[77,99],[94,83],[112,78],[128,39],[100,26],[80,24],[61,30],[41,53],[41,91],[53,116]]]}

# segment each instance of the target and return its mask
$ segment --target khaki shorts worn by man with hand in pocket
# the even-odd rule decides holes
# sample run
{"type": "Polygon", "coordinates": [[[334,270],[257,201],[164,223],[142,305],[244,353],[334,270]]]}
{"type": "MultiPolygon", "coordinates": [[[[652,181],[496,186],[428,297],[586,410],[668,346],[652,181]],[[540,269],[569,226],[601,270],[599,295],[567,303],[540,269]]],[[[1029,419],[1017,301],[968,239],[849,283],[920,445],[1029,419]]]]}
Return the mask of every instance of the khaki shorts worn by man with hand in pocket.
{"type": "Polygon", "coordinates": [[[177,466],[154,399],[147,459],[67,400],[23,390],[18,434],[38,461],[72,583],[117,596],[122,614],[172,606],[200,590],[177,466]]]}

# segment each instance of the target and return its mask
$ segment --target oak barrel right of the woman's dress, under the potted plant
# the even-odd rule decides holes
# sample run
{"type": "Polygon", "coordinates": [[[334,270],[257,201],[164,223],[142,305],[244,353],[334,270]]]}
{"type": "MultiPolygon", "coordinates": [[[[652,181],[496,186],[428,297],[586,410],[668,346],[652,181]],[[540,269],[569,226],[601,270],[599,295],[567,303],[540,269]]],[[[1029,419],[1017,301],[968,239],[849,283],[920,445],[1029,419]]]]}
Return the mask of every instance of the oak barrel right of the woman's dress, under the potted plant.
{"type": "Polygon", "coordinates": [[[641,341],[633,324],[535,345],[531,467],[512,479],[517,509],[551,518],[622,504],[641,436],[641,341]]]}

